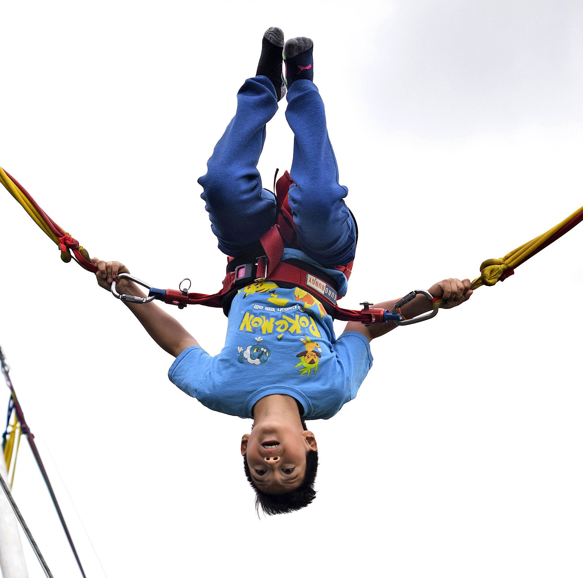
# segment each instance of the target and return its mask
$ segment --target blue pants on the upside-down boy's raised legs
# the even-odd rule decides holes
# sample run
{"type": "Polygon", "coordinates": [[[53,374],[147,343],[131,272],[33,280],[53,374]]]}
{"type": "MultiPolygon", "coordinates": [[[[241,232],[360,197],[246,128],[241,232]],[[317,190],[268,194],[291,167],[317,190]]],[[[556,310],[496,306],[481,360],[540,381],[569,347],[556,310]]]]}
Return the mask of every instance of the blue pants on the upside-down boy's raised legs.
{"type": "MultiPolygon", "coordinates": [[[[289,204],[302,251],[324,267],[354,259],[356,225],[338,184],[324,103],[310,80],[296,80],[287,92],[286,118],[294,133],[289,204]]],[[[257,170],[265,125],[278,110],[275,89],[265,76],[245,80],[237,112],[198,179],[211,228],[223,253],[237,257],[276,219],[275,197],[262,187],[257,170]]]]}

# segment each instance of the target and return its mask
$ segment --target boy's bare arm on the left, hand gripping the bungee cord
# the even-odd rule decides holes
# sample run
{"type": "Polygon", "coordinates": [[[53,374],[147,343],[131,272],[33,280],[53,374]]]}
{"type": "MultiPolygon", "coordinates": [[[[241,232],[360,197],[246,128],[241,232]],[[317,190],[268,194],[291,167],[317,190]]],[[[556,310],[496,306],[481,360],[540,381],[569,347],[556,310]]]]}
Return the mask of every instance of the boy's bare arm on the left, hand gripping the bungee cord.
{"type": "MultiPolygon", "coordinates": [[[[97,283],[107,291],[111,291],[111,281],[118,273],[129,273],[128,268],[119,261],[100,261],[97,258],[91,261],[98,269],[95,274],[97,283]]],[[[146,296],[138,285],[127,279],[120,279],[117,290],[128,295],[146,296]]],[[[123,303],[138,318],[150,337],[170,355],[178,357],[187,347],[198,345],[196,339],[174,317],[155,303],[123,303]]]]}

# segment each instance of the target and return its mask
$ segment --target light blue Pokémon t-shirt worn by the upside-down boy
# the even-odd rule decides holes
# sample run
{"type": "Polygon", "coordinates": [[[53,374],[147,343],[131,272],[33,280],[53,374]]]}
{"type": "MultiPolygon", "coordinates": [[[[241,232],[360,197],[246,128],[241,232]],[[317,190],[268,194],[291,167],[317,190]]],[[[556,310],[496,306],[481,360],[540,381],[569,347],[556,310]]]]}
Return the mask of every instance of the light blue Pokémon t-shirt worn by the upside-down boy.
{"type": "Polygon", "coordinates": [[[304,419],[328,419],[352,400],[373,364],[368,340],[357,332],[335,338],[332,318],[303,289],[259,282],[231,303],[219,355],[189,347],[168,377],[209,409],[252,418],[266,395],[290,395],[304,419]]]}

